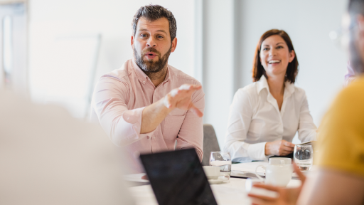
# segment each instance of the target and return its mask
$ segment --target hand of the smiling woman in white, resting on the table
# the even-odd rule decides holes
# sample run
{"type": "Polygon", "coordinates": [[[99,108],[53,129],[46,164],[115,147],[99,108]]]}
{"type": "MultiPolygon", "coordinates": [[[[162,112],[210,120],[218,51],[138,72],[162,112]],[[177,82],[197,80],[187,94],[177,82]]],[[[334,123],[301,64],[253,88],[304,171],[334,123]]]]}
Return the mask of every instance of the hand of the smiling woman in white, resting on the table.
{"type": "Polygon", "coordinates": [[[279,140],[265,143],[265,155],[286,156],[294,150],[294,144],[286,140],[279,140]]]}

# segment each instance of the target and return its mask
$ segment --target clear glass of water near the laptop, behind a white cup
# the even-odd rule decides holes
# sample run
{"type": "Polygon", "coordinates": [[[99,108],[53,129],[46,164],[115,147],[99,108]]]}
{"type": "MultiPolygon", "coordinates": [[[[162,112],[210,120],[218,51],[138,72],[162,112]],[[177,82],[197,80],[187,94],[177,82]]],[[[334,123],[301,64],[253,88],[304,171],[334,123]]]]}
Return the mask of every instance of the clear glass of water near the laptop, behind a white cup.
{"type": "Polygon", "coordinates": [[[220,167],[219,179],[230,179],[231,157],[229,152],[211,152],[210,166],[220,167]]]}

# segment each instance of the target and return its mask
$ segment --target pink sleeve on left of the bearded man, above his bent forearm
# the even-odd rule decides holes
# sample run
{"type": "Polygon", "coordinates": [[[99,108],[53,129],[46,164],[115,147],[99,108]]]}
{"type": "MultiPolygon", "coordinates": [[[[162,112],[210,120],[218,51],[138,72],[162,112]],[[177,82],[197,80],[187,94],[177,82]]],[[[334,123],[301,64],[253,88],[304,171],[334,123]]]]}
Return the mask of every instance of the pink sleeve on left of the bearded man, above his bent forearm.
{"type": "Polygon", "coordinates": [[[104,75],[92,96],[92,108],[102,128],[114,144],[126,146],[152,135],[154,131],[140,134],[141,115],[145,107],[128,110],[129,85],[111,75],[104,75]]]}

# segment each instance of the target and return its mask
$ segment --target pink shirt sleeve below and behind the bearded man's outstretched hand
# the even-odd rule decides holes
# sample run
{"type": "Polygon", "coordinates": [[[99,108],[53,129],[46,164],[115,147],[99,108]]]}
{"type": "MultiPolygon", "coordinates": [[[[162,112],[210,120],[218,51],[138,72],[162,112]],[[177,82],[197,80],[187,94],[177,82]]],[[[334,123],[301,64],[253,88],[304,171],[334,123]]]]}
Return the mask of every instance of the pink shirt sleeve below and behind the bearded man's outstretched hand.
{"type": "MultiPolygon", "coordinates": [[[[203,90],[197,90],[192,95],[192,102],[201,112],[205,109],[205,93],[203,90]]],[[[183,120],[181,130],[177,137],[176,149],[195,148],[202,161],[203,157],[203,117],[198,117],[188,110],[183,120]]]]}

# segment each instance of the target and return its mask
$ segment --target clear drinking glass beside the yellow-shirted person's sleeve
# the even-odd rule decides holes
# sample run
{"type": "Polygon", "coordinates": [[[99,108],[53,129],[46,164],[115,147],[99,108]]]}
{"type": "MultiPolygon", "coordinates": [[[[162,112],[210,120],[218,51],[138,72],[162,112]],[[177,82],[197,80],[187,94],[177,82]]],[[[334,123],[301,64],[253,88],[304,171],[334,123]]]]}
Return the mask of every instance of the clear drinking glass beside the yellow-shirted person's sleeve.
{"type": "Polygon", "coordinates": [[[314,161],[314,150],[311,145],[296,145],[294,147],[294,162],[302,171],[309,171],[314,161]]]}

